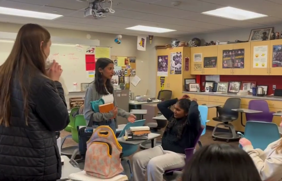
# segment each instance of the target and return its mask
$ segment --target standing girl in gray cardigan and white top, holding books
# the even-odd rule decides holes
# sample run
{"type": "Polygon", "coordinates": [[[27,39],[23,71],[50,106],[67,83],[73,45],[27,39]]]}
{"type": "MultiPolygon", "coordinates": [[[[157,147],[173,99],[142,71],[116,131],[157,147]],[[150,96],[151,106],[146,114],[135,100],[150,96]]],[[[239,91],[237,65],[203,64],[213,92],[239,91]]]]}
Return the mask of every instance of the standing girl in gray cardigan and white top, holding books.
{"type": "Polygon", "coordinates": [[[84,118],[87,121],[93,120],[94,126],[107,125],[114,132],[118,128],[118,124],[112,117],[121,116],[127,118],[129,122],[134,122],[136,117],[125,110],[116,106],[115,96],[113,94],[113,85],[111,78],[115,74],[113,61],[109,58],[99,58],[95,67],[95,80],[92,82],[86,91],[84,100],[84,118]],[[109,113],[94,112],[91,106],[91,101],[97,101],[100,98],[105,104],[113,103],[114,109],[109,113]]]}

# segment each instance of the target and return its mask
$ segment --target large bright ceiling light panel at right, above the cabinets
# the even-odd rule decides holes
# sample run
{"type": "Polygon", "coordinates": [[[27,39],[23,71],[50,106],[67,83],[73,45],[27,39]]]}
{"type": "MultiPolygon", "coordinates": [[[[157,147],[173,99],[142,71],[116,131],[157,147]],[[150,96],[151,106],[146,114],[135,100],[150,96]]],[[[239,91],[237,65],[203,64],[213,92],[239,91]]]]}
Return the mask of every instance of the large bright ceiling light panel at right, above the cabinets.
{"type": "Polygon", "coordinates": [[[206,12],[202,12],[202,14],[218,16],[228,19],[235,19],[235,20],[247,20],[247,19],[267,17],[267,15],[246,11],[242,9],[232,8],[232,7],[225,7],[216,10],[206,11],[206,12]]]}

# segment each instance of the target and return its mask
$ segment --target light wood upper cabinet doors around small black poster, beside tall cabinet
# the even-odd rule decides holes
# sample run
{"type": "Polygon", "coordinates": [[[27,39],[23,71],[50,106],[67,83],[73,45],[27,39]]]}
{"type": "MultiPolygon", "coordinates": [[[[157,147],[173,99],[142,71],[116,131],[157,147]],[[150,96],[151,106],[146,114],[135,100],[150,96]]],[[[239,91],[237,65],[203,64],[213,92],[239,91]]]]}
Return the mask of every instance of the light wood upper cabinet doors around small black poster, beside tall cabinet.
{"type": "Polygon", "coordinates": [[[218,46],[200,46],[191,48],[191,74],[192,75],[217,75],[217,67],[205,68],[204,58],[205,57],[217,57],[218,46]],[[194,54],[202,53],[201,70],[194,70],[194,54]]]}

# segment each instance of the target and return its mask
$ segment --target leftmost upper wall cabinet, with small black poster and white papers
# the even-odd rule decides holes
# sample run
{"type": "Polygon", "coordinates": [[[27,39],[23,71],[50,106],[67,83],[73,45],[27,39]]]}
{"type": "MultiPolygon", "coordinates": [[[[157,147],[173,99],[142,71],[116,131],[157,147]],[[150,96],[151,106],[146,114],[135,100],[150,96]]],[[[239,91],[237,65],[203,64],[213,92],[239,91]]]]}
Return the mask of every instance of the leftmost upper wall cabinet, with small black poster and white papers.
{"type": "MultiPolygon", "coordinates": [[[[191,48],[191,74],[193,75],[217,75],[218,64],[214,63],[213,58],[217,57],[217,47],[218,46],[199,46],[191,48]],[[195,57],[199,57],[197,59],[195,57]],[[196,61],[194,60],[196,59],[196,61]]],[[[217,58],[218,62],[218,58],[217,58]]]]}

